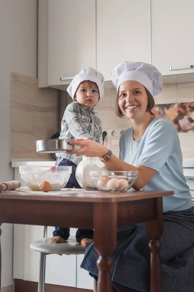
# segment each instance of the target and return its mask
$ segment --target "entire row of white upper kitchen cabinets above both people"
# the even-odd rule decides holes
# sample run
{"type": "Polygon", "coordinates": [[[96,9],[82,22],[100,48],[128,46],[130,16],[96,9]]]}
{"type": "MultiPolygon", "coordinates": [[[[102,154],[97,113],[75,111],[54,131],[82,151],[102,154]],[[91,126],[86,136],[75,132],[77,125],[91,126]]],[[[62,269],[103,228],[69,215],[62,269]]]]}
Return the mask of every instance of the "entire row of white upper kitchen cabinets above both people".
{"type": "Polygon", "coordinates": [[[155,65],[163,83],[193,82],[193,11],[191,0],[39,0],[38,87],[66,90],[86,66],[110,81],[129,60],[155,65]]]}

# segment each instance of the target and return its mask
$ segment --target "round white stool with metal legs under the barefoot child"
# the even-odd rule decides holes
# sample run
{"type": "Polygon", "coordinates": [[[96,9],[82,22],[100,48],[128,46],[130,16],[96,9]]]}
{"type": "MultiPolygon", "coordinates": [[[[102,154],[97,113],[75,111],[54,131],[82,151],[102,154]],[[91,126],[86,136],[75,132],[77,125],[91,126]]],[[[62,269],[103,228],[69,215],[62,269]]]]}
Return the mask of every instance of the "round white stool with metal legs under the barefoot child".
{"type": "MultiPolygon", "coordinates": [[[[44,226],[44,238],[30,244],[30,248],[40,253],[40,266],[38,278],[38,292],[44,292],[46,255],[83,255],[86,248],[77,243],[75,236],[70,236],[66,243],[50,243],[51,237],[47,237],[47,226],[44,226]]],[[[97,283],[94,279],[94,292],[97,292],[97,283]]]]}

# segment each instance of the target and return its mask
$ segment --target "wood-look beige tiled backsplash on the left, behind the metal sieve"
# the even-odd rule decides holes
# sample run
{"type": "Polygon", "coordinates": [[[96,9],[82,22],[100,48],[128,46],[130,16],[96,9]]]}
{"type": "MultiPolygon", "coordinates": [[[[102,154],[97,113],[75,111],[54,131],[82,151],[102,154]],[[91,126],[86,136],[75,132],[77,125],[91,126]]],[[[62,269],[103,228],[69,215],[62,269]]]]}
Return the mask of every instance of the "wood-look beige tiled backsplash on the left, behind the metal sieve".
{"type": "Polygon", "coordinates": [[[37,79],[12,73],[11,158],[51,159],[39,154],[35,141],[59,130],[58,91],[39,89],[37,79]]]}

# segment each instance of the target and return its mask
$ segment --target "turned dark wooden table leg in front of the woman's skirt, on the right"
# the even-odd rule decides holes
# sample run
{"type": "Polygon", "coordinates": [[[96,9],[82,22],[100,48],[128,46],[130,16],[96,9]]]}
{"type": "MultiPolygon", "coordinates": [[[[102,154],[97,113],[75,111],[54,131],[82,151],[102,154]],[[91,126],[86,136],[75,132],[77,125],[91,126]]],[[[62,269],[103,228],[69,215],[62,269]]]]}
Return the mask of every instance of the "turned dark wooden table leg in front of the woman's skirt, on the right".
{"type": "Polygon", "coordinates": [[[157,198],[156,210],[158,218],[145,223],[147,235],[150,237],[150,292],[162,292],[162,274],[160,264],[160,242],[163,233],[163,206],[162,198],[157,198]]]}

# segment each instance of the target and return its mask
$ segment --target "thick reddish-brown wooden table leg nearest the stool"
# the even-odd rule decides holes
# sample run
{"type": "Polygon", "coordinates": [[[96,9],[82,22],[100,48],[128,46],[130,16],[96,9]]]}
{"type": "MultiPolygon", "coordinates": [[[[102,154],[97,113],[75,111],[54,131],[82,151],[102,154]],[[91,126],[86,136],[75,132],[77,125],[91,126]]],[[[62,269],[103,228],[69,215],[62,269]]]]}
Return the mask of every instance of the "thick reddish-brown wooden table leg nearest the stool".
{"type": "Polygon", "coordinates": [[[99,254],[98,292],[112,292],[111,254],[117,245],[117,203],[94,204],[94,247],[99,254]]]}

